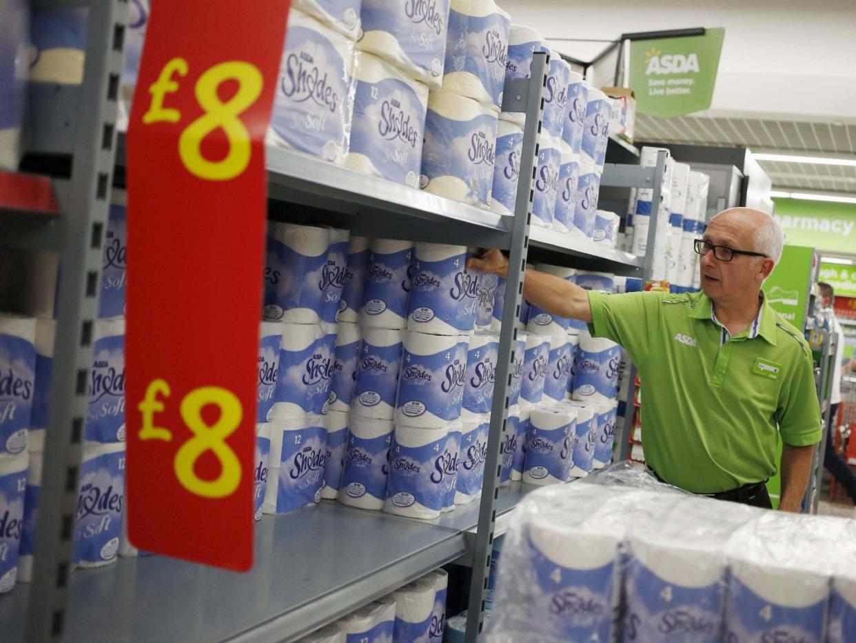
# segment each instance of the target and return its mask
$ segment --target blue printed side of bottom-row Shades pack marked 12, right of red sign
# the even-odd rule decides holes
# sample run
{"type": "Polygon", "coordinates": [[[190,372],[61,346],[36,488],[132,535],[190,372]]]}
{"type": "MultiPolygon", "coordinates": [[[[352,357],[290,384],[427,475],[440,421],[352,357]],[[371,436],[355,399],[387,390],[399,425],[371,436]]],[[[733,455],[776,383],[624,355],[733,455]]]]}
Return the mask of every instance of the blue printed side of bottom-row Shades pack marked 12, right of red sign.
{"type": "Polygon", "coordinates": [[[326,437],[327,430],[323,426],[283,432],[277,514],[288,514],[321,500],[326,437]]]}

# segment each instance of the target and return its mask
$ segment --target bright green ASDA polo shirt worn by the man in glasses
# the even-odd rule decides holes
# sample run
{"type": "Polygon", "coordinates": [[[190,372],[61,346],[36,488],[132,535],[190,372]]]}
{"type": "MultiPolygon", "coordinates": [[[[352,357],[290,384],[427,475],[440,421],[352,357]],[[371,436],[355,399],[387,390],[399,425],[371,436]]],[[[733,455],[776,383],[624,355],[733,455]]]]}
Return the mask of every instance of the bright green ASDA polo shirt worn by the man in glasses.
{"type": "Polygon", "coordinates": [[[764,301],[730,337],[703,293],[591,291],[592,334],[624,346],[642,382],[645,460],[671,484],[713,493],[776,473],[776,437],[822,436],[811,351],[764,301]]]}

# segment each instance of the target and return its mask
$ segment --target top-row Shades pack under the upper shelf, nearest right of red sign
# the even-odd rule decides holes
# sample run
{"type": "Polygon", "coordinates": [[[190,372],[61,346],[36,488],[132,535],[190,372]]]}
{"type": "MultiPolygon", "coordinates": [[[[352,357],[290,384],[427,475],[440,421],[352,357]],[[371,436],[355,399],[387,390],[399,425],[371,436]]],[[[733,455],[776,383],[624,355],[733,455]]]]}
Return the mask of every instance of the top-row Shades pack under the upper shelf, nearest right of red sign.
{"type": "Polygon", "coordinates": [[[265,319],[295,324],[324,321],[323,274],[330,229],[268,223],[265,319]]]}

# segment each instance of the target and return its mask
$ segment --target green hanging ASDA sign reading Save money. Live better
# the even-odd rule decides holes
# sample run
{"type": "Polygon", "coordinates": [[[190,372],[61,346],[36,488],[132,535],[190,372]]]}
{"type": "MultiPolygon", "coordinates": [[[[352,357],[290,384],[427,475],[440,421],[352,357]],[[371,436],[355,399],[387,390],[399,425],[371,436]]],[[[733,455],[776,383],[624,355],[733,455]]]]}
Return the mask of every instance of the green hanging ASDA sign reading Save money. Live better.
{"type": "Polygon", "coordinates": [[[630,87],[636,111],[669,118],[710,107],[725,29],[703,36],[633,40],[630,87]]]}

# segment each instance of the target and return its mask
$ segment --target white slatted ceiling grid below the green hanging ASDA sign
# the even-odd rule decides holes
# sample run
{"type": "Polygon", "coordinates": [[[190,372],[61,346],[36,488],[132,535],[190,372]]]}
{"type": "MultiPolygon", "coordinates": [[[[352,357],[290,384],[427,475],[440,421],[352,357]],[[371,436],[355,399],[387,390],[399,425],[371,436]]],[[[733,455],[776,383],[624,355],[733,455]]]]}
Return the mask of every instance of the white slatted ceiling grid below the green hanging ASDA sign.
{"type": "MultiPolygon", "coordinates": [[[[728,147],[745,145],[754,152],[829,154],[856,158],[856,125],[811,123],[773,118],[654,118],[639,115],[636,139],[728,147]]],[[[856,194],[856,167],[758,161],[774,189],[856,194]]]]}

